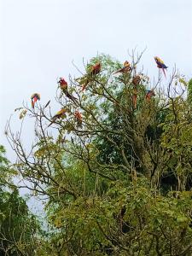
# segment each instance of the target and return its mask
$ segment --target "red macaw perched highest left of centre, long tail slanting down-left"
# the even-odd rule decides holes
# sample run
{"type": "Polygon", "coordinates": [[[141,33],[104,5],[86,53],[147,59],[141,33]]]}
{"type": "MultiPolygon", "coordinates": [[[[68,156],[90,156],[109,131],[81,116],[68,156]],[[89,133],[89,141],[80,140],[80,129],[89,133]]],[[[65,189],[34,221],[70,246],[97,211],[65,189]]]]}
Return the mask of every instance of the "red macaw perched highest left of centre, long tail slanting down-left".
{"type": "Polygon", "coordinates": [[[95,78],[95,76],[100,73],[102,70],[102,64],[97,62],[96,65],[90,67],[90,71],[85,74],[82,78],[76,79],[79,84],[82,85],[82,91],[86,88],[86,86],[95,78]]]}

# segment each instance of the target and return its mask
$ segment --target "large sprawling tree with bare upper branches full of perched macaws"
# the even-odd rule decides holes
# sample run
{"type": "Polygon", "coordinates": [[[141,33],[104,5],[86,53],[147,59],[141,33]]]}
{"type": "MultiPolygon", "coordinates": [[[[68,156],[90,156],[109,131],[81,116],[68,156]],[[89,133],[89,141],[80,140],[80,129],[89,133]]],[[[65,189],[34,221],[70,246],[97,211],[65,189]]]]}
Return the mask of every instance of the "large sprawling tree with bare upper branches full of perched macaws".
{"type": "Polygon", "coordinates": [[[57,95],[65,115],[51,119],[49,102],[24,106],[35,119],[30,154],[7,127],[17,171],[29,189],[49,199],[48,254],[192,252],[188,84],[174,71],[167,96],[161,77],[148,95],[150,80],[137,72],[141,56],[132,55],[129,70],[118,75],[121,64],[108,55],[91,59],[83,78],[70,77],[70,87],[57,95]],[[102,71],[93,73],[98,62],[102,71]]]}

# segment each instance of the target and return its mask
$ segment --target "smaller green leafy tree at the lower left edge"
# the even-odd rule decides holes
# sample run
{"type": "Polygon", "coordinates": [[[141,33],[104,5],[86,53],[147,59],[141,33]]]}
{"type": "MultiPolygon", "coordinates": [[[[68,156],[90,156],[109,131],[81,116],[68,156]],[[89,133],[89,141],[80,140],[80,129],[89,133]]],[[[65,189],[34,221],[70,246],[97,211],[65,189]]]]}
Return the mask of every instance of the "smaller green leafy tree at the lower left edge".
{"type": "Polygon", "coordinates": [[[10,174],[15,173],[9,167],[9,160],[0,147],[0,255],[33,255],[39,225],[32,215],[15,185],[10,174]]]}

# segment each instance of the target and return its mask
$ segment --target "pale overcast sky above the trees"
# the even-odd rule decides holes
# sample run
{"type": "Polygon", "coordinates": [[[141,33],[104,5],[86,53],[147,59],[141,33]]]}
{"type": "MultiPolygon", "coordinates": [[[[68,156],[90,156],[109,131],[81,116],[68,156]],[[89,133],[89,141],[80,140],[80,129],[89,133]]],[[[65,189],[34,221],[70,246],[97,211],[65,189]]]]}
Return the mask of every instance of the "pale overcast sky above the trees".
{"type": "MultiPolygon", "coordinates": [[[[128,49],[147,46],[142,64],[152,79],[154,55],[168,72],[176,64],[192,77],[192,0],[1,0],[0,7],[0,143],[9,159],[14,154],[3,135],[9,115],[33,92],[42,103],[50,99],[54,113],[56,78],[76,73],[73,60],[82,67],[83,57],[98,52],[123,62],[128,49]]],[[[18,116],[14,122],[16,130],[18,116]]],[[[29,130],[26,124],[26,143],[29,130]]]]}

